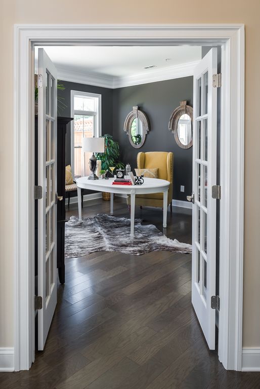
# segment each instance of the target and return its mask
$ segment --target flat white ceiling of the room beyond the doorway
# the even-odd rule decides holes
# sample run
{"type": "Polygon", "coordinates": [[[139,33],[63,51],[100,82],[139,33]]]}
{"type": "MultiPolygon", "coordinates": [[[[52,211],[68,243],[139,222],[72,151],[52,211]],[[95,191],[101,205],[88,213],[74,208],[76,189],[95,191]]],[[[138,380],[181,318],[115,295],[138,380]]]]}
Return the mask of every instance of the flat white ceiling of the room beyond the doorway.
{"type": "Polygon", "coordinates": [[[167,70],[201,59],[201,47],[197,46],[46,46],[44,49],[59,69],[112,77],[167,70]],[[144,69],[150,65],[157,67],[144,69]]]}

